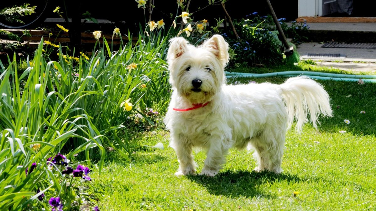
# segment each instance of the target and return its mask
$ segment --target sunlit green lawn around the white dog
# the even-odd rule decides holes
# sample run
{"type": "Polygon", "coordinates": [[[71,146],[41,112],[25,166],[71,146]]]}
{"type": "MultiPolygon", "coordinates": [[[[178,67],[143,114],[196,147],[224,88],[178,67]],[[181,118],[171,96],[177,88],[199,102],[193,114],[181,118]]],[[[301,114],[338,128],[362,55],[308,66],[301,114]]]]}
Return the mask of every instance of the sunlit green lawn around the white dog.
{"type": "MultiPolygon", "coordinates": [[[[285,78],[235,80],[283,83],[285,78]]],[[[165,149],[141,148],[130,162],[108,152],[102,173],[94,169],[86,191],[101,210],[374,210],[376,84],[318,82],[331,97],[334,117],[321,119],[318,131],[309,124],[300,134],[288,131],[280,175],[254,172],[252,154],[232,149],[217,176],[176,177],[177,158],[161,126],[133,133],[132,144],[161,142],[165,149]]],[[[195,151],[194,157],[200,172],[205,152],[195,151]]]]}

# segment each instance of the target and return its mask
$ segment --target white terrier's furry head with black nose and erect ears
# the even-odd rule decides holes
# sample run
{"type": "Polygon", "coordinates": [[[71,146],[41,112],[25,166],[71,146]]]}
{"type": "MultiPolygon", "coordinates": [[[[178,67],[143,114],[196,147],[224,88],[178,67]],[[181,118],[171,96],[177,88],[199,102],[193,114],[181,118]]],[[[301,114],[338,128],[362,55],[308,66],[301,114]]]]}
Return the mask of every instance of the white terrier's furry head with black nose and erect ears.
{"type": "Polygon", "coordinates": [[[229,61],[228,49],[220,35],[213,35],[198,47],[182,37],[171,39],[167,61],[172,87],[191,103],[211,101],[226,83],[223,70],[229,61]]]}

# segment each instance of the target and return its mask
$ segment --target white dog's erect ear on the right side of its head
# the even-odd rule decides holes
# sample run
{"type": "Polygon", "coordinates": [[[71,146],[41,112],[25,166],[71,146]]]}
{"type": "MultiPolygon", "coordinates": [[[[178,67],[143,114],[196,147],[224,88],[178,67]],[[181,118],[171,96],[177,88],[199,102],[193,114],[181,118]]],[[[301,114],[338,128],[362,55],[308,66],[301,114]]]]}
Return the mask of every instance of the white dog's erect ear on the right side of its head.
{"type": "Polygon", "coordinates": [[[223,36],[213,35],[210,39],[204,42],[203,46],[211,50],[222,62],[223,66],[226,66],[227,62],[229,62],[229,44],[224,41],[223,36]]]}

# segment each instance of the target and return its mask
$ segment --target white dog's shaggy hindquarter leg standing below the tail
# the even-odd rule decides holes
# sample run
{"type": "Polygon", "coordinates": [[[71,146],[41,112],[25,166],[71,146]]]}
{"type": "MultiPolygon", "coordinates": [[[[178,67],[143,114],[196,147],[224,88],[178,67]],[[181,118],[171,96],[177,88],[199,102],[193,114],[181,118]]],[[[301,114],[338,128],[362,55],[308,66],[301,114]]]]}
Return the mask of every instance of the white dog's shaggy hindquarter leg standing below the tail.
{"type": "Polygon", "coordinates": [[[282,155],[285,145],[285,133],[265,133],[250,140],[251,148],[255,149],[253,156],[257,160],[256,172],[269,170],[281,173],[282,155]]]}

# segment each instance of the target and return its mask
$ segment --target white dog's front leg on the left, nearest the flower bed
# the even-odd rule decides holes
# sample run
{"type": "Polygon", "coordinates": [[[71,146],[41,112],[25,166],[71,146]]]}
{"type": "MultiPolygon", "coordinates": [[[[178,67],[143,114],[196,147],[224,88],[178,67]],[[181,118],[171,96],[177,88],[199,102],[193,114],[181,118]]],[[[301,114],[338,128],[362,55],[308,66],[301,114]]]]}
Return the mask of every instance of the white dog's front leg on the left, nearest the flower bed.
{"type": "Polygon", "coordinates": [[[196,173],[196,162],[193,160],[192,145],[182,135],[171,136],[170,146],[175,149],[179,161],[176,176],[196,173]]]}

